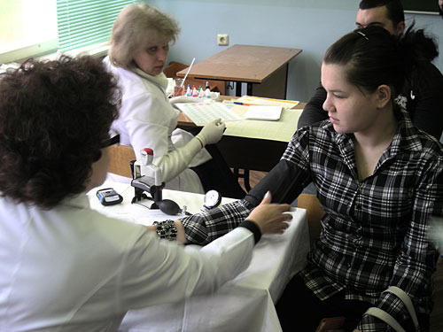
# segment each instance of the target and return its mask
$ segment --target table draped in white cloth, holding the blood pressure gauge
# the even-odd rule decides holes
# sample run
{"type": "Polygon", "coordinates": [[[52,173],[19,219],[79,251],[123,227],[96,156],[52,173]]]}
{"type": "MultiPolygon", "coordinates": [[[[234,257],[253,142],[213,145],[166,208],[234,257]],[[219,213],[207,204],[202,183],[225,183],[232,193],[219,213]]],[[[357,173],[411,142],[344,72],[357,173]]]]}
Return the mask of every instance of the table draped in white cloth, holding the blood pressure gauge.
{"type": "MultiPolygon", "coordinates": [[[[95,197],[96,190],[91,190],[92,208],[144,224],[150,224],[152,220],[176,219],[176,216],[131,205],[134,189],[126,184],[108,182],[102,187],[106,186],[116,189],[124,197],[123,203],[104,207],[95,197]]],[[[180,206],[187,205],[190,212],[198,212],[203,205],[203,196],[198,194],[165,189],[163,197],[174,199],[180,206]]],[[[222,204],[229,201],[231,199],[224,198],[222,204]]],[[[129,311],[120,331],[281,331],[274,303],[291,275],[304,266],[308,248],[306,210],[297,208],[284,235],[262,236],[254,248],[251,265],[214,294],[129,311]]]]}

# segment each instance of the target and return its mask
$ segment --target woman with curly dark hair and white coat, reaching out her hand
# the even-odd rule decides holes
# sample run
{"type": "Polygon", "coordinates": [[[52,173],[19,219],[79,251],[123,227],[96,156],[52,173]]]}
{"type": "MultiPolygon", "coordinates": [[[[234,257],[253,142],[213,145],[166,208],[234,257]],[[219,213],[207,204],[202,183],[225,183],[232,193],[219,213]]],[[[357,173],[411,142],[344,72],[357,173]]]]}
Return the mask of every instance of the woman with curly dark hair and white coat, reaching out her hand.
{"type": "Polygon", "coordinates": [[[0,76],[0,93],[2,331],[116,331],[131,308],[214,291],[261,233],[287,227],[290,206],[268,197],[216,247],[187,251],[91,210],[85,193],[105,181],[120,106],[98,59],[27,61],[0,76]]]}

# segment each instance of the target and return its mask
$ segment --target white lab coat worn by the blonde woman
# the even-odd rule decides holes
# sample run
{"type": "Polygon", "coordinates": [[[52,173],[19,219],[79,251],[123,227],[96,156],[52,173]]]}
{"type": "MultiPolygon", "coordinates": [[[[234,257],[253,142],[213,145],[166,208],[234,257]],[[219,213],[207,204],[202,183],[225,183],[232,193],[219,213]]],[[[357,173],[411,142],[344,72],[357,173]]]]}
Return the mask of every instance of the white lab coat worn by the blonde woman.
{"type": "Polygon", "coordinates": [[[211,156],[192,135],[175,129],[179,111],[168,102],[165,74],[128,71],[112,66],[109,58],[104,61],[122,89],[120,117],[112,126],[120,134],[120,143],[132,146],[137,159],[141,149],[151,148],[167,189],[204,193],[198,175],[189,167],[201,165],[211,156]]]}

